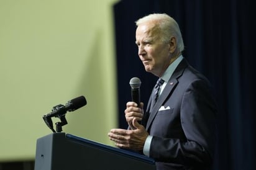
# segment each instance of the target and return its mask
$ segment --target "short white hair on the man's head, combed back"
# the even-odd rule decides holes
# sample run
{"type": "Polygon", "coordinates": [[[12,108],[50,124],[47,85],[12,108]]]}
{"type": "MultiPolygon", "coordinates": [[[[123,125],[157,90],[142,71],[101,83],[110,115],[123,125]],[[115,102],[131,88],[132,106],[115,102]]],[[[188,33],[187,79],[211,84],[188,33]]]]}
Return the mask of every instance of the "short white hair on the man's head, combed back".
{"type": "Polygon", "coordinates": [[[180,32],[180,27],[177,22],[167,14],[150,14],[140,18],[135,22],[135,24],[139,26],[140,24],[145,24],[152,21],[154,21],[158,29],[160,29],[160,33],[163,35],[162,40],[164,42],[170,42],[170,38],[175,37],[178,52],[184,50],[184,43],[180,32]]]}

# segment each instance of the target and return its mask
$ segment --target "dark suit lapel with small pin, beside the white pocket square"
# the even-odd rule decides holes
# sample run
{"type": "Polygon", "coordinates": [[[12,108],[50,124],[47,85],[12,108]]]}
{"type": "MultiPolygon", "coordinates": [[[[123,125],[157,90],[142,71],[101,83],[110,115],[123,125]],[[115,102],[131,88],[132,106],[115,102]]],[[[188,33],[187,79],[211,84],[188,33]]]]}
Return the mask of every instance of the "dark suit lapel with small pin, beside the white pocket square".
{"type": "MultiPolygon", "coordinates": [[[[171,92],[175,89],[176,85],[178,84],[178,78],[183,74],[184,69],[188,66],[188,63],[185,59],[181,61],[181,63],[178,65],[178,67],[175,69],[173,75],[169,79],[167,85],[165,86],[165,89],[163,89],[162,94],[160,95],[159,99],[155,103],[155,105],[152,107],[151,110],[149,110],[149,119],[147,120],[147,126],[146,130],[149,130],[150,125],[152,124],[153,120],[155,119],[155,116],[157,115],[158,110],[163,105],[165,100],[170,96],[171,92]]],[[[151,97],[149,103],[151,103],[151,97]]],[[[149,105],[147,109],[149,109],[149,105]]]]}

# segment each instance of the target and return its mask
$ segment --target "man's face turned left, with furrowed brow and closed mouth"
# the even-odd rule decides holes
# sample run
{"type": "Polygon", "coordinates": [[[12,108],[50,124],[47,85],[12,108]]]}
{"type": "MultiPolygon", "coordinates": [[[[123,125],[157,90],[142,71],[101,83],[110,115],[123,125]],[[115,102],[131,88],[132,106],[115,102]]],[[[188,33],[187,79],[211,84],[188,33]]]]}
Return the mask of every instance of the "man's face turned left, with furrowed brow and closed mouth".
{"type": "Polygon", "coordinates": [[[138,54],[145,70],[160,77],[170,65],[170,45],[162,41],[159,30],[153,22],[139,25],[136,30],[138,54]]]}

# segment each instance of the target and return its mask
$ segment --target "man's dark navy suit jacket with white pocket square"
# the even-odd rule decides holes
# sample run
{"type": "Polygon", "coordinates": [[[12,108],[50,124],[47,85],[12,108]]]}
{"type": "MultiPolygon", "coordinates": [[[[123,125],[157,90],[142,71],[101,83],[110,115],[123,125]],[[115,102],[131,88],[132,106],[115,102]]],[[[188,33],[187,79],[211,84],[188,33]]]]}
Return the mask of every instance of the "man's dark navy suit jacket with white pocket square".
{"type": "Polygon", "coordinates": [[[183,59],[153,107],[151,98],[142,124],[157,169],[209,169],[217,109],[208,79],[183,59]]]}

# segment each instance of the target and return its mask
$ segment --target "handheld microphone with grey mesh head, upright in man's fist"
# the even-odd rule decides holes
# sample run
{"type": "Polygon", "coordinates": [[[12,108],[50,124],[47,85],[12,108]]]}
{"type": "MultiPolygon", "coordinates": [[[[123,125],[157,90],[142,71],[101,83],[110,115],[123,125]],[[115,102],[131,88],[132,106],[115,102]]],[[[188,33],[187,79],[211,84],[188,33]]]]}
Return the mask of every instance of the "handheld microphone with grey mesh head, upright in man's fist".
{"type": "Polygon", "coordinates": [[[132,102],[135,102],[138,107],[140,107],[140,84],[141,81],[139,78],[130,79],[132,102]]]}

